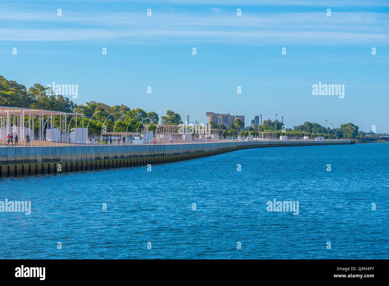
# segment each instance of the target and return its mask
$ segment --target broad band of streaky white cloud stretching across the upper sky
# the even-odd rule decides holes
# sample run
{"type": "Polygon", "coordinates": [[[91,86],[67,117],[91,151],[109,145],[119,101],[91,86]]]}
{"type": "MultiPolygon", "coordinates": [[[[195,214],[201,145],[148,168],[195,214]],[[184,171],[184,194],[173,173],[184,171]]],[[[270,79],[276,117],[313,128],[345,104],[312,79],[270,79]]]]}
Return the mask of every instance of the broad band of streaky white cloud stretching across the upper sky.
{"type": "Polygon", "coordinates": [[[145,13],[4,11],[0,41],[120,41],[125,43],[230,43],[338,45],[388,43],[388,14],[145,13]],[[12,24],[10,24],[12,23],[12,24]]]}

